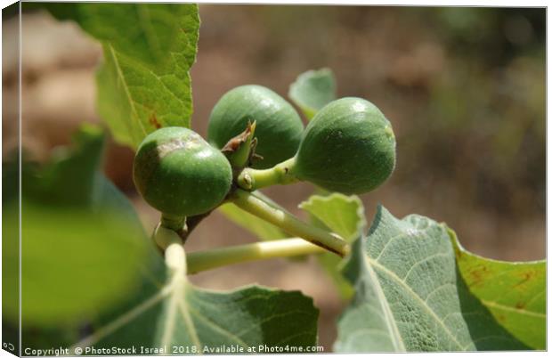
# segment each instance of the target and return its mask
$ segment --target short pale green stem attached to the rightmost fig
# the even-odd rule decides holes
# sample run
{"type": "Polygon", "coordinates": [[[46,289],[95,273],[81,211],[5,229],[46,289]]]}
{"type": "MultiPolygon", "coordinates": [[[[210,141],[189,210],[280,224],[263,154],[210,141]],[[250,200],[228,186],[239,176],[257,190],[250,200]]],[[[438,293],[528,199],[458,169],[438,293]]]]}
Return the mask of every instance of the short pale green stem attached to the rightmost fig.
{"type": "Polygon", "coordinates": [[[293,175],[296,159],[291,158],[268,169],[245,168],[238,175],[236,182],[241,189],[256,191],[267,186],[296,183],[299,180],[293,175]]]}

